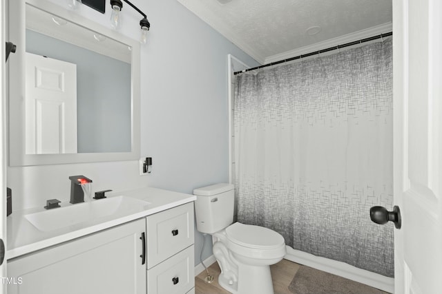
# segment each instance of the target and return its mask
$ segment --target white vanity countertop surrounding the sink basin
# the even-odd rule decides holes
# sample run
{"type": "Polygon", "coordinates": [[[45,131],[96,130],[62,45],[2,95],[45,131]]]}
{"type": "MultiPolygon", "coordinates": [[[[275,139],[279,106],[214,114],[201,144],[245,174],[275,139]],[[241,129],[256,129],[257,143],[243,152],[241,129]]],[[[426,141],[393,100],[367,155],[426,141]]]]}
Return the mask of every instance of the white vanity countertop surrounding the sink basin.
{"type": "MultiPolygon", "coordinates": [[[[32,225],[25,218],[27,214],[36,213],[39,211],[46,211],[41,207],[24,209],[23,211],[14,211],[8,216],[8,245],[6,251],[6,258],[8,260],[17,258],[20,255],[30,253],[44,249],[48,246],[56,245],[61,242],[73,240],[75,238],[95,233],[103,229],[115,227],[125,222],[137,220],[138,218],[144,218],[153,213],[164,211],[177,207],[178,205],[185,204],[196,200],[196,196],[177,193],[173,191],[166,191],[156,188],[142,188],[130,191],[113,191],[106,193],[108,198],[113,196],[128,196],[131,198],[137,198],[150,202],[146,207],[140,207],[140,210],[135,213],[122,214],[114,213],[110,216],[97,218],[87,222],[80,222],[78,224],[64,227],[61,229],[55,229],[53,231],[39,231],[34,225],[32,225]]],[[[100,200],[93,200],[100,201],[100,200]]],[[[61,203],[61,207],[67,207],[70,203],[61,203]]],[[[63,208],[57,208],[63,209],[63,208]]],[[[79,216],[81,218],[81,216],[79,216]]]]}

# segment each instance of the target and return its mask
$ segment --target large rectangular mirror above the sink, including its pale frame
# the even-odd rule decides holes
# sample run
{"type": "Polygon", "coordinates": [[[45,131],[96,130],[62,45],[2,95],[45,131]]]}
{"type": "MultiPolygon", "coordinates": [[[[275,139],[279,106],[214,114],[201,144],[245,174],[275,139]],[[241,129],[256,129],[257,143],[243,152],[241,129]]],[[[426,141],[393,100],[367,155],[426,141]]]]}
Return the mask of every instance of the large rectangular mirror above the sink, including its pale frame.
{"type": "Polygon", "coordinates": [[[140,44],[48,1],[17,2],[10,165],[138,159],[140,44]]]}

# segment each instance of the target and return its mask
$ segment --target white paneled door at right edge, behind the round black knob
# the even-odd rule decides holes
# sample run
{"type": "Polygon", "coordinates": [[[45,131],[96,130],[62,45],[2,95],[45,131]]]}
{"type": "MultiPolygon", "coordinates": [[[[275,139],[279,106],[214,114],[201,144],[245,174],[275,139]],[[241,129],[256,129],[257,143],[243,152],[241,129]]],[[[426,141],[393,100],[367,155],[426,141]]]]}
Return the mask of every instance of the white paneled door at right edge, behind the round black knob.
{"type": "Polygon", "coordinates": [[[393,0],[395,293],[442,293],[441,12],[393,0]]]}

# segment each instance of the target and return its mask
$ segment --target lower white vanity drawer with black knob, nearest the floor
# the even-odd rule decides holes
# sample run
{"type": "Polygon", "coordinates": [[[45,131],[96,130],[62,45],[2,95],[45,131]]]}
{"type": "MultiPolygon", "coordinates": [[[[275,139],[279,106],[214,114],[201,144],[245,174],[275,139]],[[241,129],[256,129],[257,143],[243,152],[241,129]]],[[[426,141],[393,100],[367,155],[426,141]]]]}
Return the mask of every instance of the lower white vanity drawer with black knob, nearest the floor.
{"type": "Polygon", "coordinates": [[[187,293],[195,286],[193,271],[192,245],[147,271],[147,293],[187,293]]]}

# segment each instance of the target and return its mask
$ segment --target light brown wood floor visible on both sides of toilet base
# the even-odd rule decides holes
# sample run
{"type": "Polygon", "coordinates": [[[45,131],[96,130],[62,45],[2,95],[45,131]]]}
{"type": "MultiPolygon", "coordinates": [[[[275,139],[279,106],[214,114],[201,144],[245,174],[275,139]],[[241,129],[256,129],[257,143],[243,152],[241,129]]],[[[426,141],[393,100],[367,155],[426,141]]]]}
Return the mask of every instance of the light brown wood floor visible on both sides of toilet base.
{"type": "MultiPolygon", "coordinates": [[[[213,275],[213,282],[204,282],[207,273],[203,271],[195,277],[195,294],[229,294],[230,292],[224,290],[224,288],[218,284],[218,275],[221,273],[218,262],[209,266],[208,269],[209,274],[213,275]]],[[[300,269],[300,264],[290,262],[289,260],[281,260],[277,264],[270,266],[275,294],[293,294],[289,291],[288,287],[298,269],[300,269]]]]}

